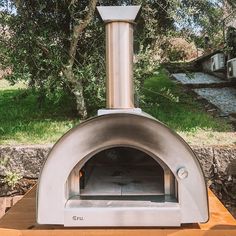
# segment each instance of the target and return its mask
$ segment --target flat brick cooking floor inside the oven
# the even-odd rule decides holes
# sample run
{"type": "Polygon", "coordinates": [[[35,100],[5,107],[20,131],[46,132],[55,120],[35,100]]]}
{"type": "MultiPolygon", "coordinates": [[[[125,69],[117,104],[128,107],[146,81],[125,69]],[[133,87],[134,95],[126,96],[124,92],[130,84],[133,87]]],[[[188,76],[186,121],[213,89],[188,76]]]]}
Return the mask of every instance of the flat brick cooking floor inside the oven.
{"type": "Polygon", "coordinates": [[[81,196],[163,195],[163,175],[156,173],[150,166],[95,166],[81,196]]]}

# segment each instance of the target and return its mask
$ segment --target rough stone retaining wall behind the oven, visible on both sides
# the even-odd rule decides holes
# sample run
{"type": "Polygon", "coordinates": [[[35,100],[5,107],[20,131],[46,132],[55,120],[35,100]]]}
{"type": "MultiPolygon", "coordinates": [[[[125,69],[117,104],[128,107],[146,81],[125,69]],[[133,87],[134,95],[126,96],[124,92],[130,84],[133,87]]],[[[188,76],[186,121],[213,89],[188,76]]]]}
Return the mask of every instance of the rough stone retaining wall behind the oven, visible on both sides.
{"type": "MultiPolygon", "coordinates": [[[[6,170],[19,173],[21,180],[14,188],[0,183],[0,196],[24,194],[36,183],[51,146],[0,146],[0,176],[6,170]]],[[[236,146],[192,146],[208,182],[208,186],[236,215],[236,146]]]]}

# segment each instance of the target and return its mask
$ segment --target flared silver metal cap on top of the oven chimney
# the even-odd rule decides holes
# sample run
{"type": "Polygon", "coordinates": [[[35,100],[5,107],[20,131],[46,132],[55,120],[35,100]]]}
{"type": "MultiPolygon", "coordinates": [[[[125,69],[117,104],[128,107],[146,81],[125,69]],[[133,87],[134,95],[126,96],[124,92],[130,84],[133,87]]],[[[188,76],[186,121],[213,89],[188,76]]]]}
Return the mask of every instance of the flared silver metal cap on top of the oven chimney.
{"type": "Polygon", "coordinates": [[[97,10],[103,21],[135,21],[141,6],[100,6],[97,10]]]}

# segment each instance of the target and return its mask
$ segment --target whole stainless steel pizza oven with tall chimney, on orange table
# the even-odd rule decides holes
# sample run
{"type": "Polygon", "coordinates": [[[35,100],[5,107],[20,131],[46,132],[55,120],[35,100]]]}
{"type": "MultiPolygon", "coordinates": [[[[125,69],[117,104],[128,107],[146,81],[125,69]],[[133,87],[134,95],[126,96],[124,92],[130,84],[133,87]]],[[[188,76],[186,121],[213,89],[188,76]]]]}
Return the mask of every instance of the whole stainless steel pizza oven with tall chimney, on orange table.
{"type": "Polygon", "coordinates": [[[98,7],[106,24],[107,109],[52,148],[37,192],[39,224],[180,226],[208,220],[201,167],[176,133],[133,98],[139,6],[98,7]]]}

